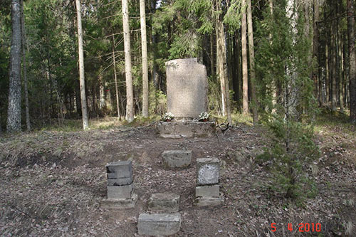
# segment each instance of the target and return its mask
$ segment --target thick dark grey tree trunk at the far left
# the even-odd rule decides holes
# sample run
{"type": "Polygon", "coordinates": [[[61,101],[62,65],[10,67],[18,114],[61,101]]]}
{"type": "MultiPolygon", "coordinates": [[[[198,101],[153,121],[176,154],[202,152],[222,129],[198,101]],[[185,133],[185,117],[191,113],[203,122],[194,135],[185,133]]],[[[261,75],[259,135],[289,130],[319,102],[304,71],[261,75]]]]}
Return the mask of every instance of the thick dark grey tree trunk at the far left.
{"type": "Polygon", "coordinates": [[[21,5],[11,1],[12,38],[10,51],[9,107],[7,132],[21,132],[21,5]]]}

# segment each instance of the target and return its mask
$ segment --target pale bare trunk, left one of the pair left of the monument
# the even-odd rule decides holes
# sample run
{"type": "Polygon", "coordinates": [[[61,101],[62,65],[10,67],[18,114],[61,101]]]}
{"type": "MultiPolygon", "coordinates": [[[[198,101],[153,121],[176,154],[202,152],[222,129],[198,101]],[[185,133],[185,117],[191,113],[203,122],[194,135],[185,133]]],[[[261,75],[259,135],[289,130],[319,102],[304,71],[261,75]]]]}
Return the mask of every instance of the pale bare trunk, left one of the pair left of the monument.
{"type": "Polygon", "coordinates": [[[134,101],[131,74],[131,46],[130,28],[127,0],[122,0],[122,23],[124,28],[124,47],[125,47],[125,76],[126,76],[126,120],[132,122],[134,119],[134,101]]]}

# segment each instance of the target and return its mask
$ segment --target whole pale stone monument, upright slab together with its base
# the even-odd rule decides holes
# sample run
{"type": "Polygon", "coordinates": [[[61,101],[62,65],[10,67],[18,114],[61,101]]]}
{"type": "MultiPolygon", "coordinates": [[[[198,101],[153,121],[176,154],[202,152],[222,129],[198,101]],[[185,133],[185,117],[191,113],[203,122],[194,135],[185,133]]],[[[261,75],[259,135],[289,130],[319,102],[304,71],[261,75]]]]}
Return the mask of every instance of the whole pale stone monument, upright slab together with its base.
{"type": "Polygon", "coordinates": [[[166,62],[167,112],[174,121],[162,122],[157,128],[161,137],[210,137],[215,122],[198,122],[201,112],[208,110],[208,78],[206,68],[197,58],[166,62]]]}

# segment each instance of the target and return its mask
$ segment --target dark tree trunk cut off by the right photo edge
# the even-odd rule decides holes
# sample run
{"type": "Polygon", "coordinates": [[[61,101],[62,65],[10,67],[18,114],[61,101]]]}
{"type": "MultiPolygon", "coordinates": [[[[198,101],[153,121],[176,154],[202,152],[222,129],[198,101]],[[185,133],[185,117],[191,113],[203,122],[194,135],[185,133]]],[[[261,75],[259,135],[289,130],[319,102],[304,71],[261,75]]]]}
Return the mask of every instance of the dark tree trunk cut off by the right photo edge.
{"type": "Polygon", "coordinates": [[[356,122],[356,55],[355,17],[353,0],[347,0],[347,36],[349,41],[350,70],[350,120],[356,122]]]}

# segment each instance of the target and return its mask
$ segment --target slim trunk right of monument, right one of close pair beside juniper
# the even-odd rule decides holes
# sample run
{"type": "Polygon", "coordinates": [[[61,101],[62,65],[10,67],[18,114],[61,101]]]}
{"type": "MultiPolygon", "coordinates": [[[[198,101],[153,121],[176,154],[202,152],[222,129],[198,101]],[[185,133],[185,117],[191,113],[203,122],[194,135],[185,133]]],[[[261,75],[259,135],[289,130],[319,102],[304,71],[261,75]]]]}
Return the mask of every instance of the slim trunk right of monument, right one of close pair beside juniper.
{"type": "Polygon", "coordinates": [[[252,117],[253,125],[258,122],[257,114],[257,98],[256,98],[256,73],[255,73],[255,49],[253,44],[253,26],[252,26],[252,11],[251,0],[247,0],[247,23],[248,23],[248,52],[250,53],[250,86],[251,86],[251,100],[252,100],[252,117]]]}

